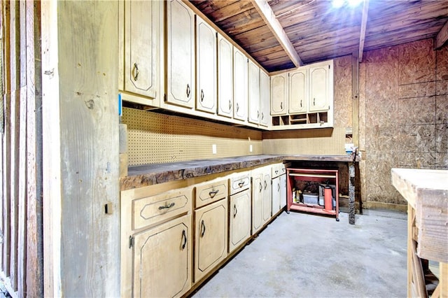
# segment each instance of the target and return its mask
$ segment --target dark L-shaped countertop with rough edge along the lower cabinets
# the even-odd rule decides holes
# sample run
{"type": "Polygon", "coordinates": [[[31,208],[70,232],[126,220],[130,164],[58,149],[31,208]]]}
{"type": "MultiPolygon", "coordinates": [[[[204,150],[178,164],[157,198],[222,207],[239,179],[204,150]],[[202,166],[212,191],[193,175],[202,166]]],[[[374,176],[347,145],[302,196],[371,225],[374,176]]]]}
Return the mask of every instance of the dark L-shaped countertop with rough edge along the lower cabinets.
{"type": "Polygon", "coordinates": [[[174,180],[207,176],[225,171],[251,168],[262,164],[288,161],[353,162],[351,155],[248,155],[219,159],[201,159],[188,162],[145,164],[130,166],[127,176],[120,179],[120,190],[155,185],[174,180]]]}

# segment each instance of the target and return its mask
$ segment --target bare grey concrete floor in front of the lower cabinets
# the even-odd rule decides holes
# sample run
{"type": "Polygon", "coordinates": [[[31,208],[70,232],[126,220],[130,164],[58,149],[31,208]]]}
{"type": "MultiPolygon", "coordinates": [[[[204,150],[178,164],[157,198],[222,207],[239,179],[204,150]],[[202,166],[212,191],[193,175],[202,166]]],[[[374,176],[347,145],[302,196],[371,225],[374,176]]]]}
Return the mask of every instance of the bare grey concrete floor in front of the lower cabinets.
{"type": "Polygon", "coordinates": [[[405,213],[281,213],[193,297],[406,297],[405,213]]]}

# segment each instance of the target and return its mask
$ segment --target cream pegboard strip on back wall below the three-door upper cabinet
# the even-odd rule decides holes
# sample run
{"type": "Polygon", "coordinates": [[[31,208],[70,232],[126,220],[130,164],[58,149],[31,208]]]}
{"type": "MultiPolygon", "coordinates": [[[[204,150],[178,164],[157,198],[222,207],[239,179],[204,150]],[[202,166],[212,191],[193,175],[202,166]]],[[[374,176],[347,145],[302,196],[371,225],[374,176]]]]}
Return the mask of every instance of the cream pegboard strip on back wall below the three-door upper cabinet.
{"type": "Polygon", "coordinates": [[[344,155],[345,127],[262,133],[262,152],[284,155],[344,155]]]}

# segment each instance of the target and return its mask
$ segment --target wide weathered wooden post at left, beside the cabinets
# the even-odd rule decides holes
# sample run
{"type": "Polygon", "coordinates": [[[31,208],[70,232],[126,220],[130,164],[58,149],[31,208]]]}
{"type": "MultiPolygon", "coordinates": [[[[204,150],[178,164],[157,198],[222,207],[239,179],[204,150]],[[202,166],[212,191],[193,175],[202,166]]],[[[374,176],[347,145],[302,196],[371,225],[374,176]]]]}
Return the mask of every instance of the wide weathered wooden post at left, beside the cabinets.
{"type": "Polygon", "coordinates": [[[42,1],[44,294],[120,293],[118,1],[42,1]]]}

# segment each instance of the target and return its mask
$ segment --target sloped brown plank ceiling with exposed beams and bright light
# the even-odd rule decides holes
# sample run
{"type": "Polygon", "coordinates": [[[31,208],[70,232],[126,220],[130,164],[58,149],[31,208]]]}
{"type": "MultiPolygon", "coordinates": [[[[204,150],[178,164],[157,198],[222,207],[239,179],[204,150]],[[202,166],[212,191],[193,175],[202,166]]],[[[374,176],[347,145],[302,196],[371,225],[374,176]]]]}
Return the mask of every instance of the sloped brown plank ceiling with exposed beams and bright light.
{"type": "Polygon", "coordinates": [[[448,38],[448,0],[190,0],[267,71],[448,38]]]}

